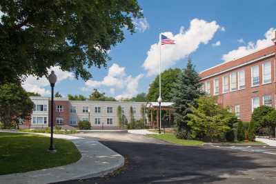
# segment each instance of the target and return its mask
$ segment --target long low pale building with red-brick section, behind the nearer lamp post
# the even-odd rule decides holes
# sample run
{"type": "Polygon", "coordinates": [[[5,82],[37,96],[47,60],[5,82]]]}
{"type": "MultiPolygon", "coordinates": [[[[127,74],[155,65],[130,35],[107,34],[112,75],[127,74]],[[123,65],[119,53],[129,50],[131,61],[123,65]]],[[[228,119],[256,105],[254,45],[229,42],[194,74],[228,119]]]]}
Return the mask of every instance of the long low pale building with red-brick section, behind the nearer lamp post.
{"type": "MultiPolygon", "coordinates": [[[[50,126],[50,98],[30,96],[34,103],[31,119],[22,128],[41,128],[50,126]]],[[[130,121],[130,107],[136,120],[142,119],[141,108],[144,102],[130,101],[70,101],[68,98],[54,99],[54,124],[77,127],[79,121],[89,121],[92,129],[117,129],[117,108],[130,121]]]]}

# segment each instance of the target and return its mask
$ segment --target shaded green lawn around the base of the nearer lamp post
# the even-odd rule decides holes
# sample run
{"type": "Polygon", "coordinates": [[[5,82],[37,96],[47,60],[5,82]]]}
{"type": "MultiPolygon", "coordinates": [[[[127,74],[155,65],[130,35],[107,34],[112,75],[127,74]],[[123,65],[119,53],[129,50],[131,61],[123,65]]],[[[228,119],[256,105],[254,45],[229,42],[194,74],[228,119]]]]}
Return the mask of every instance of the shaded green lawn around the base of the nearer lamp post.
{"type": "Polygon", "coordinates": [[[81,158],[71,141],[54,139],[55,154],[48,152],[49,143],[46,136],[0,132],[0,174],[57,167],[81,158]]]}

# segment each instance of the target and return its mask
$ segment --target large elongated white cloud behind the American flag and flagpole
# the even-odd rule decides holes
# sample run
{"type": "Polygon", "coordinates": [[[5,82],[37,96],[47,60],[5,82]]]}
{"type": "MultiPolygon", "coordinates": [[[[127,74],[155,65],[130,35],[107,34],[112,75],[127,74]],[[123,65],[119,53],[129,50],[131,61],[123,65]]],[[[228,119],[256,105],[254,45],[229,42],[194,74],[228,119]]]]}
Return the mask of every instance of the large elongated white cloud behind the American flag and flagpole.
{"type": "MultiPolygon", "coordinates": [[[[184,30],[181,27],[179,34],[163,32],[166,37],[175,40],[175,45],[162,45],[161,70],[174,65],[179,59],[184,59],[190,53],[195,52],[201,43],[207,44],[213,39],[215,32],[219,29],[216,21],[207,22],[202,19],[190,21],[190,28],[184,30]]],[[[148,50],[148,57],[143,63],[143,68],[148,71],[148,76],[158,73],[160,45],[155,43],[148,50]]]]}

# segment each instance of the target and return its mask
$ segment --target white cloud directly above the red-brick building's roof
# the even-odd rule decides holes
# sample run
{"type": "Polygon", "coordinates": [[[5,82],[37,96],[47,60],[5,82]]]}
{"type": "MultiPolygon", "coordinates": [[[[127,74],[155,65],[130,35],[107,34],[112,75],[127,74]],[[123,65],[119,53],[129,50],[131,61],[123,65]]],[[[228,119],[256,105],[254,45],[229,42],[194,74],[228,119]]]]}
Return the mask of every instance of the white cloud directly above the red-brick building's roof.
{"type": "Polygon", "coordinates": [[[239,59],[248,54],[256,52],[257,50],[262,50],[270,45],[273,45],[273,39],[275,37],[275,28],[270,28],[265,34],[265,39],[258,39],[256,43],[249,41],[246,46],[240,46],[236,50],[231,50],[227,54],[222,56],[224,61],[232,61],[233,59],[239,59]]]}

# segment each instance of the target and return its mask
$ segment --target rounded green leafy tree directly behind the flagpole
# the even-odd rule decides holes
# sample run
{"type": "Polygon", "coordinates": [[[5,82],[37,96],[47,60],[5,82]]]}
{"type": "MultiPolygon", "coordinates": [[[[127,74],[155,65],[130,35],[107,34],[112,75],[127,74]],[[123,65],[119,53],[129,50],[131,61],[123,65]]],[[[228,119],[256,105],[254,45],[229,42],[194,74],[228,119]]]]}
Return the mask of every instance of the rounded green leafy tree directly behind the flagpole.
{"type": "MultiPolygon", "coordinates": [[[[172,87],[177,82],[177,77],[181,73],[179,68],[168,69],[161,73],[161,96],[163,101],[172,101],[172,87]]],[[[148,101],[157,101],[159,96],[159,75],[150,83],[148,89],[148,101]]]]}

